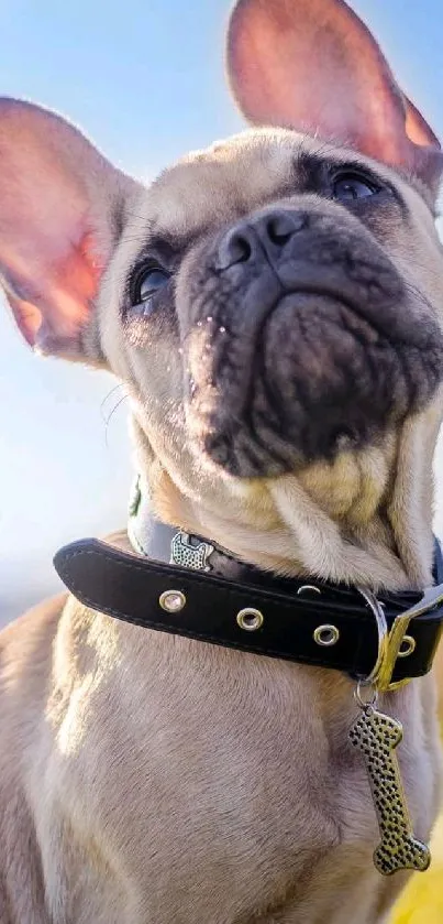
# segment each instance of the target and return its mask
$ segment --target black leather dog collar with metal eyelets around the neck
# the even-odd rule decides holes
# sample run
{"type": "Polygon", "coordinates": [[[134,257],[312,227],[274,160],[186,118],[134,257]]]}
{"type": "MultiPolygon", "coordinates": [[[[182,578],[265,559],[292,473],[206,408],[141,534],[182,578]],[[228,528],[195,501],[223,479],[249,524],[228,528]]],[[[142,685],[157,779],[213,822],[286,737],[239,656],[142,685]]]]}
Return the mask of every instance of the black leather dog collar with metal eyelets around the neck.
{"type": "MultiPolygon", "coordinates": [[[[147,629],[186,635],[245,652],[367,677],[377,660],[375,617],[355,588],[275,577],[236,561],[204,540],[153,524],[153,561],[86,539],[57,552],[54,564],[77,599],[92,609],[147,629]],[[158,531],[160,535],[158,535],[158,531]],[[163,550],[163,551],[160,551],[163,550]],[[201,568],[207,568],[203,570],[201,568]]],[[[141,552],[145,550],[141,550],[141,552]]],[[[443,584],[443,561],[435,541],[435,584],[443,584]]],[[[388,629],[418,604],[417,593],[378,597],[388,629]]],[[[414,617],[407,656],[396,661],[392,681],[421,676],[431,668],[443,627],[443,605],[414,617]]]]}

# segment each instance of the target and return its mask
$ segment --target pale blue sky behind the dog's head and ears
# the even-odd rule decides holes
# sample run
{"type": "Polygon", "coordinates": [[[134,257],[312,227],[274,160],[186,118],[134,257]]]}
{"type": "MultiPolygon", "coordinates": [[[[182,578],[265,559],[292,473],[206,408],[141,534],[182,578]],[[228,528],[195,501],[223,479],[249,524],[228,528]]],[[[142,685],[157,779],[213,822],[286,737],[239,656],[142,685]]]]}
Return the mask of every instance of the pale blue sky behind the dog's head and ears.
{"type": "MultiPolygon", "coordinates": [[[[190,148],[242,128],[223,76],[229,6],[0,0],[0,93],[67,115],[111,160],[148,180],[190,148]]],[[[441,0],[353,6],[443,137],[441,0]]],[[[124,523],[131,457],[124,404],[106,433],[111,378],[33,357],[7,313],[0,329],[0,612],[9,617],[56,586],[58,545],[124,523]]],[[[443,532],[441,517],[438,526],[443,532]]]]}

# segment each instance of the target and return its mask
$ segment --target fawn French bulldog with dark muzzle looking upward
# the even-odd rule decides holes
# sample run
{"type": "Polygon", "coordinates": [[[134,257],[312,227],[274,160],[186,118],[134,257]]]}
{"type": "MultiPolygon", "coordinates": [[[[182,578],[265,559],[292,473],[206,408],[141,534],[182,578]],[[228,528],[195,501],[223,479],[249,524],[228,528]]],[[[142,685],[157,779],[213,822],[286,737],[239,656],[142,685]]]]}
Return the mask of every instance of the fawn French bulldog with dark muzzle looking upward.
{"type": "MultiPolygon", "coordinates": [[[[123,570],[111,588],[103,577],[102,610],[79,584],[2,632],[1,924],[372,924],[410,874],[373,862],[354,678],[247,646],[267,626],[267,580],[311,587],[307,619],[319,587],[374,604],[435,580],[442,153],[342,0],[239,0],[226,48],[252,127],[148,188],[54,112],[0,104],[0,269],[18,327],[43,355],[111,370],[131,400],[134,537],[108,537],[101,558],[88,547],[90,580],[107,555],[131,581],[149,574],[147,593],[184,575],[204,626],[225,586],[213,556],[255,575],[244,643],[184,634],[174,586],[176,630],[113,619],[123,570]],[[155,524],[173,529],[171,565],[145,556],[155,524]]],[[[333,629],[317,639],[331,652],[333,629]]],[[[405,729],[427,841],[442,780],[433,674],[380,702],[405,729]]]]}

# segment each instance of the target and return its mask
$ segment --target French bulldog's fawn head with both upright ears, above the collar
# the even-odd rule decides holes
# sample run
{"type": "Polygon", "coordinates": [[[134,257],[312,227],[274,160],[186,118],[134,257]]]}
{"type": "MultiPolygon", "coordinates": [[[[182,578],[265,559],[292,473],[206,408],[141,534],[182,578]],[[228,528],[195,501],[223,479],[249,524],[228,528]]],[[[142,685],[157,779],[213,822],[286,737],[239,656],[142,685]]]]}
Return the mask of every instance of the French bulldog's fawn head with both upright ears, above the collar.
{"type": "Polygon", "coordinates": [[[144,188],[0,106],[0,268],[26,340],[110,368],[159,515],[257,564],[429,578],[442,154],[341,0],[240,0],[257,128],[144,188]]]}

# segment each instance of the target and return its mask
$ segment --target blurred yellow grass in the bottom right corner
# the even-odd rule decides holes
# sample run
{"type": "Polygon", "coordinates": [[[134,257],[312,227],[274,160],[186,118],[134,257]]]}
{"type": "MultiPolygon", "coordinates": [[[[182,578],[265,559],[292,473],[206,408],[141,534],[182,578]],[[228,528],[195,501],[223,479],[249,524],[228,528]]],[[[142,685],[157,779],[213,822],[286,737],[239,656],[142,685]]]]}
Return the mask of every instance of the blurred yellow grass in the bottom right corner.
{"type": "Polygon", "coordinates": [[[431,854],[430,869],[412,877],[390,924],[443,924],[443,816],[434,830],[431,854]]]}

